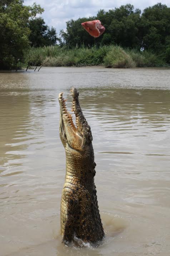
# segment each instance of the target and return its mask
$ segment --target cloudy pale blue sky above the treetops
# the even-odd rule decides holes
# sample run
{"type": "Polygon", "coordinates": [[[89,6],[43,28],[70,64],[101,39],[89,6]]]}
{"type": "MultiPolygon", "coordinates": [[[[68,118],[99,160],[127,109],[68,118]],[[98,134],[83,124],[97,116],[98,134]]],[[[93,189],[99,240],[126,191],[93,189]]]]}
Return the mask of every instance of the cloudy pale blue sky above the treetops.
{"type": "Polygon", "coordinates": [[[170,7],[170,0],[24,0],[25,5],[32,5],[34,2],[44,8],[41,16],[49,27],[56,28],[58,34],[60,29],[66,29],[68,20],[95,16],[100,9],[108,11],[130,3],[135,9],[139,8],[142,11],[158,2],[170,7]]]}

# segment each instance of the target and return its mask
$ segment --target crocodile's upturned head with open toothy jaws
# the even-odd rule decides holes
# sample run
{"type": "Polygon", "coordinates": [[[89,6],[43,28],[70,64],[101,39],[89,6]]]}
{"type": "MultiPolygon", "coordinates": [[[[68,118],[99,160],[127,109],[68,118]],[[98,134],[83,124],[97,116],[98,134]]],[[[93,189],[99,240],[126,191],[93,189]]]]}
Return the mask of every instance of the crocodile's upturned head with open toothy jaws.
{"type": "Polygon", "coordinates": [[[79,92],[71,89],[72,95],[72,112],[76,117],[76,126],[73,123],[71,114],[68,112],[63,98],[63,93],[59,94],[60,103],[60,139],[65,148],[69,150],[82,151],[85,147],[90,146],[92,135],[90,126],[88,125],[79,104],[79,92]]]}

